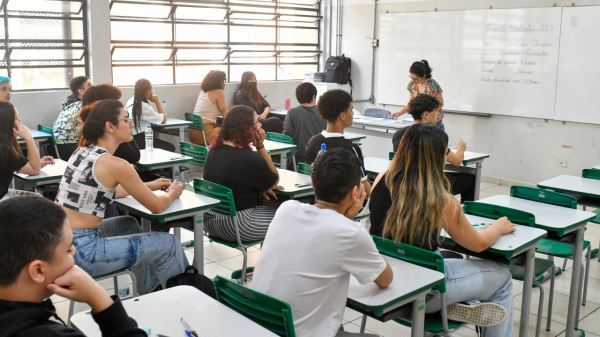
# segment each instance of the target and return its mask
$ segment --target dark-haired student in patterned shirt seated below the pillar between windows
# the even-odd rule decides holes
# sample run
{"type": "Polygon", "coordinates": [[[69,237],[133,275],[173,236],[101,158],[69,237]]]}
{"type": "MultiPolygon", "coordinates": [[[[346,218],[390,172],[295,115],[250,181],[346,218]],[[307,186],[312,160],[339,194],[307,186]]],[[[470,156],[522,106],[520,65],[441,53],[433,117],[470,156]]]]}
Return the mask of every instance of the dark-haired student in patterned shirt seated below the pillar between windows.
{"type": "Polygon", "coordinates": [[[62,160],[69,160],[79,140],[81,121],[75,118],[81,110],[81,98],[87,89],[92,87],[92,82],[87,76],[77,76],[69,82],[72,94],[67,96],[60,105],[60,114],[54,122],[52,132],[56,139],[58,156],[62,160]]]}

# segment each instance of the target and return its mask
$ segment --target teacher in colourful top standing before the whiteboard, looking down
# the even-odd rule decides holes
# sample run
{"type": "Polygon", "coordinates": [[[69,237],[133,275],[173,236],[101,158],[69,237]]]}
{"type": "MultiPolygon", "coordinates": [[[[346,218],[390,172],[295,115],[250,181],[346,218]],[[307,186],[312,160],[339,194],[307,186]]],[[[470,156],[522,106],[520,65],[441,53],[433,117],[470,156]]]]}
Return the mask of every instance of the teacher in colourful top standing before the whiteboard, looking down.
{"type": "MultiPolygon", "coordinates": [[[[410,81],[406,87],[408,90],[408,101],[410,102],[415,96],[423,94],[435,97],[440,102],[440,115],[436,126],[444,130],[444,113],[442,112],[442,107],[444,107],[444,97],[442,97],[443,90],[442,87],[440,87],[440,84],[431,78],[431,70],[427,60],[414,62],[410,66],[410,69],[408,70],[410,81]]],[[[410,113],[409,110],[410,106],[407,104],[402,110],[391,114],[390,117],[398,118],[407,112],[410,113]]]]}

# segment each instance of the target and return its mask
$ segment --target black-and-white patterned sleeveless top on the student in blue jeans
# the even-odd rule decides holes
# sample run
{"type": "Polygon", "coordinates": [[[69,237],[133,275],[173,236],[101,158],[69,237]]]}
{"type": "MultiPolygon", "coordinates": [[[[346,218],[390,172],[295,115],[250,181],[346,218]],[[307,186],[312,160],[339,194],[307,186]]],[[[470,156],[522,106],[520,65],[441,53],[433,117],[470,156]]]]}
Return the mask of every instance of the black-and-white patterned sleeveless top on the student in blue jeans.
{"type": "Polygon", "coordinates": [[[107,154],[106,149],[96,145],[78,148],[69,158],[56,202],[74,211],[104,218],[106,206],[113,202],[117,188],[102,185],[94,168],[98,159],[107,154]]]}

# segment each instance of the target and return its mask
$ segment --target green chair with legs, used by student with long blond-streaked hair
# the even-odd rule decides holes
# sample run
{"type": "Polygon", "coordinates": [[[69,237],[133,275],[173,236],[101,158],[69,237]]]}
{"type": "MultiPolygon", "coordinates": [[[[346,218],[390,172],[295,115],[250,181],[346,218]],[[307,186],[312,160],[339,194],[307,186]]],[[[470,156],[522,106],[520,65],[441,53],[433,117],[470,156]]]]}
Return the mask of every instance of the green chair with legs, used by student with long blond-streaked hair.
{"type": "MultiPolygon", "coordinates": [[[[435,270],[442,274],[444,273],[444,258],[437,253],[407,245],[405,243],[383,239],[378,236],[373,236],[373,241],[375,241],[377,249],[383,255],[410,262],[427,269],[435,270]]],[[[439,284],[432,289],[440,292],[442,309],[439,312],[425,315],[425,331],[434,335],[456,331],[465,323],[452,320],[449,321],[447,318],[446,279],[440,280],[439,284]]],[[[361,331],[364,331],[364,325],[366,324],[365,316],[363,316],[361,331]]],[[[394,321],[407,327],[412,326],[410,320],[408,319],[397,318],[394,321]]]]}

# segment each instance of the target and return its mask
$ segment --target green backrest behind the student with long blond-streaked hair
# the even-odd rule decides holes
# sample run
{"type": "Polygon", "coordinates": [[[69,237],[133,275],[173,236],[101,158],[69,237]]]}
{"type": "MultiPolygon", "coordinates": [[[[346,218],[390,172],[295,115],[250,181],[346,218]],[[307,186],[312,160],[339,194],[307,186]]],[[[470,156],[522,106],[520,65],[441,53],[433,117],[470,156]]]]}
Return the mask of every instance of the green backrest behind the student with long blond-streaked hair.
{"type": "MultiPolygon", "coordinates": [[[[372,237],[377,250],[381,254],[444,274],[444,258],[440,254],[379,236],[373,235],[372,237]]],[[[446,281],[440,281],[440,284],[433,289],[439,290],[440,293],[445,293],[446,281]]]]}

